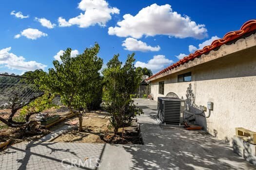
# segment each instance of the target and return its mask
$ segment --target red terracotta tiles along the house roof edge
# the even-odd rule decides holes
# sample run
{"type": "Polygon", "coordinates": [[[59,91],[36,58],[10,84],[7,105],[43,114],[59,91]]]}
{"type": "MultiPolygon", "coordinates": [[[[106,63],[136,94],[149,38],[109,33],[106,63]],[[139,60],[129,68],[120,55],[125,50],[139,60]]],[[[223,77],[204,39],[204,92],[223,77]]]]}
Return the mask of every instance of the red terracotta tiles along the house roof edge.
{"type": "Polygon", "coordinates": [[[220,47],[221,45],[223,44],[226,44],[238,37],[241,37],[242,35],[246,34],[246,33],[249,33],[249,32],[252,32],[256,30],[256,19],[252,19],[252,20],[249,20],[247,22],[245,22],[240,30],[237,30],[237,31],[231,31],[231,32],[228,32],[227,34],[225,34],[223,36],[223,38],[220,38],[220,39],[217,39],[217,40],[214,40],[211,45],[208,45],[208,46],[205,46],[203,49],[201,50],[197,50],[195,51],[194,53],[191,53],[189,54],[188,56],[185,56],[183,57],[182,59],[180,59],[179,61],[177,61],[177,63],[174,63],[173,65],[167,67],[167,68],[164,68],[163,70],[159,71],[158,73],[154,74],[153,76],[147,78],[146,80],[150,80],[162,73],[165,73],[167,72],[168,70],[170,69],[173,69],[173,68],[176,68],[188,61],[191,61],[193,60],[194,58],[197,58],[198,56],[206,53],[206,52],[209,52],[209,51],[212,51],[214,49],[216,49],[217,47],[220,47]]]}

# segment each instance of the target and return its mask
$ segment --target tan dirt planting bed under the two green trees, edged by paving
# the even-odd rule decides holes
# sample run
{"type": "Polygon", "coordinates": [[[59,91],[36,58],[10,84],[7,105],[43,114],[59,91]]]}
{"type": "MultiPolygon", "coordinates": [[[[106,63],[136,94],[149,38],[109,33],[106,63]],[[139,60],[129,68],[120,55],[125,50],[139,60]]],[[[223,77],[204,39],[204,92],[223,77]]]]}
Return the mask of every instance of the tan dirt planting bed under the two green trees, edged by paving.
{"type": "MultiPolygon", "coordinates": [[[[77,120],[77,119],[75,119],[77,120]]],[[[82,132],[70,130],[61,134],[54,142],[79,142],[79,143],[122,143],[139,144],[138,126],[124,128],[123,141],[121,138],[122,128],[118,130],[118,135],[114,136],[110,127],[109,116],[98,113],[86,113],[83,117],[82,132]]]]}

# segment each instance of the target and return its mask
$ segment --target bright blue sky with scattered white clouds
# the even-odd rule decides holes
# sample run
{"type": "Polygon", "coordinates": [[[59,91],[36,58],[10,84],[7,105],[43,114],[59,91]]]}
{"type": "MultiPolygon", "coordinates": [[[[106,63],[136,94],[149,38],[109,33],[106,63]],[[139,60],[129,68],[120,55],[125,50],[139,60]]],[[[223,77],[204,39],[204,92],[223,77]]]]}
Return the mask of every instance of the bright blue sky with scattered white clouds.
{"type": "Polygon", "coordinates": [[[255,19],[255,6],[254,0],[1,0],[0,72],[47,71],[61,50],[70,47],[75,56],[98,42],[104,64],[134,51],[136,66],[156,73],[255,19]]]}

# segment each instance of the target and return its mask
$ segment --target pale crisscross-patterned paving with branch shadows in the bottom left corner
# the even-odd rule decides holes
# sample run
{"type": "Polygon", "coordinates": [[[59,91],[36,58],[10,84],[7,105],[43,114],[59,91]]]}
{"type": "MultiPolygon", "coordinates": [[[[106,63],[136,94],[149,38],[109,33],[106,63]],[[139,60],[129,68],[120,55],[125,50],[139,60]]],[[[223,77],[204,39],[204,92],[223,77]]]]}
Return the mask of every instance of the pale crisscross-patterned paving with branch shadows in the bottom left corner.
{"type": "Polygon", "coordinates": [[[75,167],[79,167],[79,160],[82,164],[87,160],[88,168],[83,169],[95,169],[103,148],[104,144],[22,142],[0,153],[0,170],[79,169],[75,167]]]}

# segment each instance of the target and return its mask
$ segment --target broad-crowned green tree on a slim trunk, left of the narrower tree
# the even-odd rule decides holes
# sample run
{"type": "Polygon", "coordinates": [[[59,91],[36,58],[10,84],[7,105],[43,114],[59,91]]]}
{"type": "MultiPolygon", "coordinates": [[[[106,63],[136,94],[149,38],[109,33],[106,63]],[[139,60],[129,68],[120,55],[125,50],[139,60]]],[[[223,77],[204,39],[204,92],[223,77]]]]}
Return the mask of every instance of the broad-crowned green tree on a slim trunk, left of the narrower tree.
{"type": "Polygon", "coordinates": [[[99,45],[95,43],[94,47],[86,48],[83,53],[71,57],[71,49],[68,48],[60,56],[61,63],[53,61],[55,68],[50,68],[49,73],[40,79],[43,87],[59,94],[61,102],[79,118],[79,131],[82,130],[83,114],[95,100],[95,91],[102,88],[99,70],[103,62],[97,56],[98,51],[99,45]]]}

